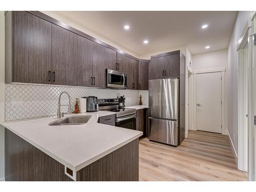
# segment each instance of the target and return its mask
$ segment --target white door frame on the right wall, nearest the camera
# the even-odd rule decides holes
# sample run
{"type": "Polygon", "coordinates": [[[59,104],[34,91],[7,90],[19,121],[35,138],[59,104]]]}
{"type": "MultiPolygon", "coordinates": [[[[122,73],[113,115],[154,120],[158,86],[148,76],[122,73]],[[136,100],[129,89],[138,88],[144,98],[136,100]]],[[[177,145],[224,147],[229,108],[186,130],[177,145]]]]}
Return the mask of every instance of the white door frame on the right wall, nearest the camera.
{"type": "Polygon", "coordinates": [[[248,170],[248,128],[249,128],[249,22],[240,36],[237,44],[238,60],[238,169],[244,172],[248,170]],[[247,44],[247,56],[244,57],[244,46],[247,44]],[[247,66],[245,66],[245,60],[247,66]],[[247,85],[247,87],[246,87],[247,85]],[[247,117],[246,117],[247,114],[247,117]]]}

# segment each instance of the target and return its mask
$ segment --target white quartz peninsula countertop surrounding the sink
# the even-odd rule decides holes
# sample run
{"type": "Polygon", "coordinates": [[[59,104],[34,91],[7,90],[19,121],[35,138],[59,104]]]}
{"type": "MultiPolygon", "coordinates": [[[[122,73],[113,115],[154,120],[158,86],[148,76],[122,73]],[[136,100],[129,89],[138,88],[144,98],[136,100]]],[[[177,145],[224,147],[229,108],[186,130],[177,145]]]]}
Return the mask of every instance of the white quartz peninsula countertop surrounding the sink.
{"type": "MultiPolygon", "coordinates": [[[[97,123],[114,112],[98,111],[86,124],[48,125],[53,118],[5,121],[1,124],[74,172],[140,137],[142,132],[97,123]]],[[[68,115],[72,116],[72,115],[68,115]]],[[[62,117],[66,118],[68,116],[62,117]]]]}

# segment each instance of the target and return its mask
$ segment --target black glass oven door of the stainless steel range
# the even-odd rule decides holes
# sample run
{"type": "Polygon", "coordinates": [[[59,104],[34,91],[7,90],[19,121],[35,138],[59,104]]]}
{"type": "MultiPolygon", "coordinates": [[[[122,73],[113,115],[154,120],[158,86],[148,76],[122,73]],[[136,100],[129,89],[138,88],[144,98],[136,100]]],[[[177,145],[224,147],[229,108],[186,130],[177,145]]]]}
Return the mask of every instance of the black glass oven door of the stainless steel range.
{"type": "Polygon", "coordinates": [[[116,126],[136,130],[136,114],[116,118],[116,126]]]}

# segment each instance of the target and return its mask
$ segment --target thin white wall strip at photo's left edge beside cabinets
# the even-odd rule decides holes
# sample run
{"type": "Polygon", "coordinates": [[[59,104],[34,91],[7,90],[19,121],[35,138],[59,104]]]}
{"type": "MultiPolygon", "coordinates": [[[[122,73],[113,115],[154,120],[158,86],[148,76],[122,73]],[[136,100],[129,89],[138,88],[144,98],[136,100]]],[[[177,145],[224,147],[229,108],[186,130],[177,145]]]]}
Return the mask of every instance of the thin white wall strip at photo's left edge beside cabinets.
{"type": "MultiPolygon", "coordinates": [[[[5,16],[0,11],[0,121],[5,118],[5,16]]],[[[5,177],[5,132],[0,125],[0,181],[5,177]]]]}

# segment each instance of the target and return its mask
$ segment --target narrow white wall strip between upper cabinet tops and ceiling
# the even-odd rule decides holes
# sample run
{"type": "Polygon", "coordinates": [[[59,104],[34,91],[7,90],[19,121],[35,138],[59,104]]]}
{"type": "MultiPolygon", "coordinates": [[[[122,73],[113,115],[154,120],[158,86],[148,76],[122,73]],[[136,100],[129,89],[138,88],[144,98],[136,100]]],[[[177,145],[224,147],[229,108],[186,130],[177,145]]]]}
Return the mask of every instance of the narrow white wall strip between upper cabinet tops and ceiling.
{"type": "Polygon", "coordinates": [[[119,50],[121,50],[125,53],[128,53],[128,54],[130,54],[134,57],[139,58],[139,55],[134,53],[133,51],[128,50],[128,49],[116,44],[112,40],[110,40],[108,38],[105,38],[105,37],[101,36],[98,33],[93,32],[92,30],[88,29],[87,27],[76,23],[74,20],[71,20],[71,19],[69,19],[68,17],[66,17],[62,14],[59,14],[58,11],[40,11],[40,12],[45,13],[46,15],[49,15],[50,17],[53,17],[53,18],[59,20],[60,22],[63,22],[63,23],[65,23],[65,24],[67,24],[67,25],[69,25],[69,26],[71,26],[71,27],[73,27],[73,28],[75,28],[79,31],[82,31],[82,32],[94,37],[94,38],[97,38],[97,39],[105,42],[106,44],[109,44],[109,45],[111,45],[111,46],[113,46],[113,47],[115,47],[115,48],[117,48],[117,49],[119,49],[119,50]]]}

